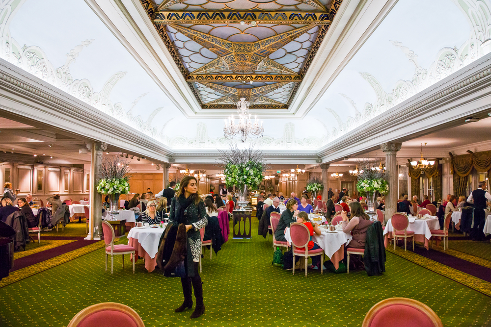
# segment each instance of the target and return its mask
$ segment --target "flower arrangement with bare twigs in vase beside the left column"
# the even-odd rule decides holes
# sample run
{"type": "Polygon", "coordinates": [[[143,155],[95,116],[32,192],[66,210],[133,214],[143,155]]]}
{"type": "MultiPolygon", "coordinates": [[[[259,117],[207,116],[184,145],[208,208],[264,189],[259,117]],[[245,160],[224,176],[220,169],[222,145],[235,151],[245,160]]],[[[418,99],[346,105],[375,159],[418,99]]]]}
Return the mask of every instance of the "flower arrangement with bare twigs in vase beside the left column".
{"type": "Polygon", "coordinates": [[[130,192],[130,171],[128,163],[120,156],[103,157],[101,172],[97,192],[107,194],[109,197],[109,215],[114,220],[114,216],[119,214],[118,200],[121,194],[130,192]]]}

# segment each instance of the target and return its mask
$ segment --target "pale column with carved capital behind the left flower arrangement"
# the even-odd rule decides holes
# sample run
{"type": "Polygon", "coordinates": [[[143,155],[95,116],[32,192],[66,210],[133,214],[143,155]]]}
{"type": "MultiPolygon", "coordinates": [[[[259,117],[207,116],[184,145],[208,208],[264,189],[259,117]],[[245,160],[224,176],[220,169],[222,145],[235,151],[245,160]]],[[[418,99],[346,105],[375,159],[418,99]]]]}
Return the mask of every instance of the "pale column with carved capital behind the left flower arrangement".
{"type": "Polygon", "coordinates": [[[93,142],[86,144],[86,147],[90,150],[90,217],[89,234],[85,239],[101,240],[104,238],[102,232],[102,201],[101,195],[97,192],[97,184],[99,183],[98,176],[102,165],[102,153],[106,150],[108,144],[104,142],[93,142]]]}

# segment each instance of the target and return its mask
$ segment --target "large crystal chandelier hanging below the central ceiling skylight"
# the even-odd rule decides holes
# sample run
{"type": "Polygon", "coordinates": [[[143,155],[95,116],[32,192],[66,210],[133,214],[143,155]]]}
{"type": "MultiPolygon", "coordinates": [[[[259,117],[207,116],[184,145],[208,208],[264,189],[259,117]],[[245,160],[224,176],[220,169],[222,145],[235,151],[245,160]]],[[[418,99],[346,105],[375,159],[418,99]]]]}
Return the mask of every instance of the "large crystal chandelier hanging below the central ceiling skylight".
{"type": "Polygon", "coordinates": [[[225,138],[227,136],[234,136],[240,134],[242,143],[246,142],[247,137],[250,135],[262,137],[264,128],[263,123],[259,125],[259,121],[257,120],[257,116],[254,117],[254,123],[250,120],[249,113],[249,101],[246,101],[246,98],[241,98],[241,101],[237,101],[237,113],[239,113],[239,122],[235,124],[234,116],[225,120],[225,126],[223,127],[223,133],[225,138]]]}

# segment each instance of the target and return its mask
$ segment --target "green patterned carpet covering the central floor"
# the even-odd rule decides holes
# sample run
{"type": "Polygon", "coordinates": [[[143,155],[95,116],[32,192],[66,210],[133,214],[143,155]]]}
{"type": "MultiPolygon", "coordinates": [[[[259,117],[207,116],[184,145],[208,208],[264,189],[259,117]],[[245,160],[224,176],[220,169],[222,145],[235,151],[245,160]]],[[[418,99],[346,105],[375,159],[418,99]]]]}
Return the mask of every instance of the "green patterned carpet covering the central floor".
{"type": "MultiPolygon", "coordinates": [[[[66,326],[82,308],[120,302],[134,308],[145,326],[360,326],[375,303],[407,297],[428,304],[444,326],[490,326],[491,298],[387,252],[383,276],[365,271],[294,276],[271,264],[271,238],[229,240],[210,261],[203,259],[206,312],[174,313],[183,300],[179,278],[147,273],[127,258],[104,271],[104,250],[90,252],[0,288],[0,326],[66,326]]],[[[257,232],[256,232],[257,233],[257,232]]],[[[123,242],[126,242],[124,239],[123,242]]]]}

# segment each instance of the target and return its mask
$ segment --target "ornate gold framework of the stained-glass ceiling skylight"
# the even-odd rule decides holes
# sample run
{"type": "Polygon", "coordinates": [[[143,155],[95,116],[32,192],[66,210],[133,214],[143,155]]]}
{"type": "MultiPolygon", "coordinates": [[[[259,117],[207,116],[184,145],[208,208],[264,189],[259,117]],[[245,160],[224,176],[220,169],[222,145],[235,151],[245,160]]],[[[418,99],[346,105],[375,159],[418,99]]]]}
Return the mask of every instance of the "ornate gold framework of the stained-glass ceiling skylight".
{"type": "Polygon", "coordinates": [[[301,9],[298,11],[284,11],[281,9],[278,11],[261,11],[257,9],[249,11],[234,11],[232,9],[220,11],[206,9],[202,11],[199,11],[199,9],[173,11],[169,10],[173,5],[185,4],[188,6],[189,4],[186,3],[186,0],[164,0],[155,8],[151,0],[140,0],[174,62],[186,79],[193,95],[203,109],[235,108],[235,102],[240,97],[246,97],[251,102],[251,109],[288,109],[299,89],[303,76],[327,34],[327,29],[339,9],[341,1],[333,0],[327,9],[320,0],[300,0],[301,3],[311,6],[313,11],[302,11],[301,9]],[[241,22],[250,27],[260,26],[261,24],[289,26],[296,24],[300,25],[300,27],[256,42],[231,42],[189,28],[189,26],[194,24],[238,24],[241,22]],[[189,60],[189,58],[186,57],[184,58],[185,61],[183,61],[183,56],[180,54],[181,48],[173,44],[173,39],[169,37],[170,34],[166,31],[166,25],[171,26],[200,46],[215,53],[217,58],[197,69],[189,70],[187,68],[189,64],[186,64],[188,63],[186,60],[189,60]],[[300,68],[298,73],[298,68],[294,68],[296,71],[292,71],[288,67],[279,64],[276,59],[269,58],[270,54],[296,40],[316,26],[319,27],[319,31],[315,32],[317,36],[312,32],[310,33],[314,35],[315,40],[311,41],[312,45],[307,48],[309,52],[304,57],[303,63],[300,63],[301,66],[298,67],[300,68]],[[240,74],[241,72],[243,75],[240,74]],[[240,85],[230,87],[229,85],[233,84],[217,84],[218,82],[243,81],[275,83],[244,90],[240,89],[240,85]],[[294,84],[292,84],[293,87],[289,88],[291,90],[289,91],[290,94],[286,101],[283,100],[285,103],[264,97],[264,94],[292,82],[294,84]],[[196,89],[199,88],[199,85],[211,88],[224,95],[224,97],[206,102],[206,97],[202,99],[196,89]]]}

